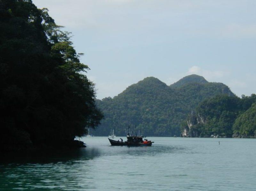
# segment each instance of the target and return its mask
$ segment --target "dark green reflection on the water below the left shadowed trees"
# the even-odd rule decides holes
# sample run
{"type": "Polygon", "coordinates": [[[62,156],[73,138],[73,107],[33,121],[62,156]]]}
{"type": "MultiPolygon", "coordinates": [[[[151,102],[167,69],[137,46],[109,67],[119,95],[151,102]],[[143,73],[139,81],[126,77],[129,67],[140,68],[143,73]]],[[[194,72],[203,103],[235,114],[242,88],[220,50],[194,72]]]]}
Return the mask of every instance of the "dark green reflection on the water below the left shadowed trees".
{"type": "Polygon", "coordinates": [[[98,156],[97,148],[34,152],[12,159],[13,155],[9,155],[5,158],[9,164],[5,161],[0,165],[0,188],[79,190],[85,186],[81,180],[91,178],[88,161],[98,156]]]}

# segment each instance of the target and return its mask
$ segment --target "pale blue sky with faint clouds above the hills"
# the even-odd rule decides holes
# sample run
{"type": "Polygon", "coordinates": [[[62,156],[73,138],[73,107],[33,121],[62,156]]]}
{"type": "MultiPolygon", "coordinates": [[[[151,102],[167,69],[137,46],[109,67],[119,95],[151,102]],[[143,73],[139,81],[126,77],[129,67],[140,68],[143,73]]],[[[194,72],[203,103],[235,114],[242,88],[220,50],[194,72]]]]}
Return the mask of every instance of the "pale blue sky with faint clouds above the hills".
{"type": "Polygon", "coordinates": [[[256,1],[33,0],[72,32],[97,99],[145,77],[190,74],[256,93],[256,1]]]}

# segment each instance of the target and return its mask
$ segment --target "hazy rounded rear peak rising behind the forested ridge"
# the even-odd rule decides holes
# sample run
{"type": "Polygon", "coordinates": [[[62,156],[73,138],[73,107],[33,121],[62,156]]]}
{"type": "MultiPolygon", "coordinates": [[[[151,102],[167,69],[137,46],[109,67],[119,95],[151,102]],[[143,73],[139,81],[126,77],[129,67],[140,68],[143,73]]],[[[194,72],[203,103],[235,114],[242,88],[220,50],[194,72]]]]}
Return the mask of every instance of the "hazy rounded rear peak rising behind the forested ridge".
{"type": "Polygon", "coordinates": [[[185,76],[185,77],[181,78],[178,82],[171,84],[170,87],[177,88],[177,87],[181,87],[185,84],[189,84],[189,83],[205,84],[205,83],[208,83],[208,81],[206,79],[204,79],[204,77],[202,77],[202,76],[192,74],[192,75],[185,76]]]}

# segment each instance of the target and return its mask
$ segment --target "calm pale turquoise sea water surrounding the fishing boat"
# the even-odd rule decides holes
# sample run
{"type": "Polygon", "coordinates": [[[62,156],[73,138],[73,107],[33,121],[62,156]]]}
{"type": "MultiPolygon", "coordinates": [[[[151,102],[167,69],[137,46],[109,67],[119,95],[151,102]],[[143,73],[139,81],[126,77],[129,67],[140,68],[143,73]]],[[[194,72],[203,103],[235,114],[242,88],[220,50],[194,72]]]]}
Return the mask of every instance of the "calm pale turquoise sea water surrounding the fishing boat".
{"type": "Polygon", "coordinates": [[[256,190],[255,139],[148,139],[114,147],[84,137],[85,149],[14,156],[0,163],[0,190],[256,190]]]}

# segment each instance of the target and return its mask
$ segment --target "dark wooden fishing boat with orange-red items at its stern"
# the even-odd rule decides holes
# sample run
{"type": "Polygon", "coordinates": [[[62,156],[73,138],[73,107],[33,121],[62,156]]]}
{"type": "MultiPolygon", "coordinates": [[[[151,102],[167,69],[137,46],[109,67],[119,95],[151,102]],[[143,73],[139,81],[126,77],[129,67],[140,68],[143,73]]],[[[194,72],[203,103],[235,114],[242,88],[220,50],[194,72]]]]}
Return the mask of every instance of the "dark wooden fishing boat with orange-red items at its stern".
{"type": "Polygon", "coordinates": [[[121,141],[116,141],[116,140],[112,140],[110,138],[108,138],[111,146],[151,146],[152,141],[148,141],[148,139],[145,139],[144,136],[126,136],[127,141],[123,142],[123,139],[121,139],[121,141]],[[144,138],[144,141],[143,141],[144,138]]]}

